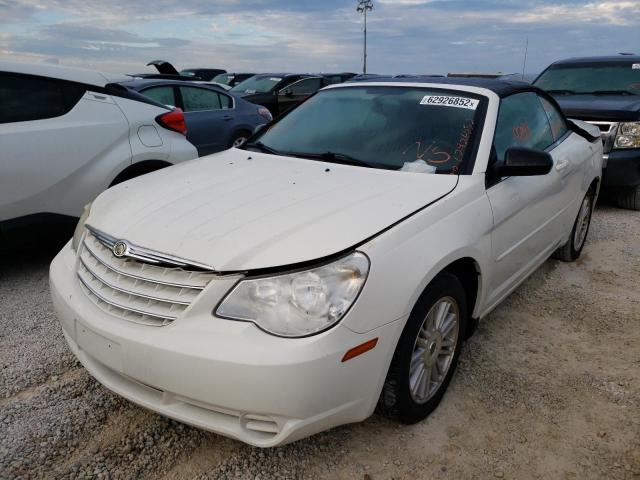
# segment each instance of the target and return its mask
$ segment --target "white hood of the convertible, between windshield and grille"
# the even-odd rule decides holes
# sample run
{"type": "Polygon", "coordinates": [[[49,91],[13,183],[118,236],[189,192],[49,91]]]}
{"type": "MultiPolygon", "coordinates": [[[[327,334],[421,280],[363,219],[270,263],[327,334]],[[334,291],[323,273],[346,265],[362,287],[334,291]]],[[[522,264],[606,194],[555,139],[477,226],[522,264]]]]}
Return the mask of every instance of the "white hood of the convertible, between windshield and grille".
{"type": "Polygon", "coordinates": [[[456,184],[231,149],[108,189],[87,223],[220,272],[263,269],[352,248],[456,184]]]}

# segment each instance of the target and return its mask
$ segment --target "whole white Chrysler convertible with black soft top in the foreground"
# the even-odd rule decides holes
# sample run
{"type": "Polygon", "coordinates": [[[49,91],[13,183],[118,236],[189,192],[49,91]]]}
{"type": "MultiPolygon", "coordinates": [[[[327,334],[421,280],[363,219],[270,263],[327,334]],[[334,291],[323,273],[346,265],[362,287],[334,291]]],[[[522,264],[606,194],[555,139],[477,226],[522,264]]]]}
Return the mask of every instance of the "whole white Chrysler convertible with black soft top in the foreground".
{"type": "Polygon", "coordinates": [[[326,88],[243,149],[100,195],[51,265],[80,362],[262,447],[376,406],[425,418],[476,320],[580,255],[602,162],[535,87],[438,80],[326,88]]]}

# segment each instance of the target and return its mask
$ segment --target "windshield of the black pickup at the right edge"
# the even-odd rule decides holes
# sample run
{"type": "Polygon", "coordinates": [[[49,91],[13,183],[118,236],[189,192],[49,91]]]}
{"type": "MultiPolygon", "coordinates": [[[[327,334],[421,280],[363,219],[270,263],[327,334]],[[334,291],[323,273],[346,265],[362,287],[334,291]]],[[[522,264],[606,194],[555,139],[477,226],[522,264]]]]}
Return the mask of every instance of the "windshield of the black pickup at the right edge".
{"type": "Polygon", "coordinates": [[[535,82],[551,93],[640,95],[640,63],[588,63],[550,67],[535,82]]]}

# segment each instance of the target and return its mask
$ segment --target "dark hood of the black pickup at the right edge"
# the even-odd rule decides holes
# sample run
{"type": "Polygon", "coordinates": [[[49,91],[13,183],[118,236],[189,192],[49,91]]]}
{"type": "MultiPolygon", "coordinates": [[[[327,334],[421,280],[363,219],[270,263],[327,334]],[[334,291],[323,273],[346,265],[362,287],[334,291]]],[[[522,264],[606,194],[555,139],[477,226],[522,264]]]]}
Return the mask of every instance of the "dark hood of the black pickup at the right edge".
{"type": "Polygon", "coordinates": [[[638,95],[554,95],[567,117],[610,122],[640,119],[638,95]]]}

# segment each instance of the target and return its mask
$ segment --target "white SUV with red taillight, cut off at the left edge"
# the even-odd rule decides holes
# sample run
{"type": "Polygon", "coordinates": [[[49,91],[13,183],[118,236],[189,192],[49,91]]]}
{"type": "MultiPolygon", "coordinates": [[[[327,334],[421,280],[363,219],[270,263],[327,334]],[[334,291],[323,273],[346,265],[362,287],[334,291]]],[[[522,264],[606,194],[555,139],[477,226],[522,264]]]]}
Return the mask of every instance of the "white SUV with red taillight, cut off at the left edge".
{"type": "Polygon", "coordinates": [[[114,80],[0,62],[0,225],[34,214],[80,216],[109,186],[198,156],[182,112],[114,80]]]}

